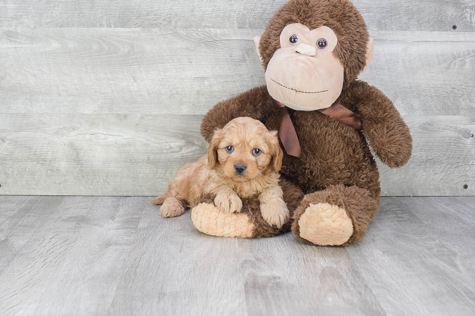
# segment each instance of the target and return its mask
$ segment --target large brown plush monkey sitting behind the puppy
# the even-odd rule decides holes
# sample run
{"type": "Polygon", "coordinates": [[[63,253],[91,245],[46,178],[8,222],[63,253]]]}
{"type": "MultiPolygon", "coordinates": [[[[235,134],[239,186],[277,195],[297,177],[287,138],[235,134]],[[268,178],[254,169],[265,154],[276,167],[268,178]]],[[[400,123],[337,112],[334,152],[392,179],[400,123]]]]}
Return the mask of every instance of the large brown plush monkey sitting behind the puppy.
{"type": "Polygon", "coordinates": [[[348,0],[290,0],[254,42],[267,86],[215,105],[201,133],[209,141],[216,128],[240,116],[279,130],[291,223],[269,227],[255,200],[243,201],[240,213],[223,214],[204,196],[191,211],[194,225],[207,234],[246,238],[273,236],[291,225],[299,239],[316,245],[361,240],[380,205],[370,147],[392,168],[406,164],[412,151],[409,129],[391,100],[357,80],[373,57],[362,16],[348,0]]]}

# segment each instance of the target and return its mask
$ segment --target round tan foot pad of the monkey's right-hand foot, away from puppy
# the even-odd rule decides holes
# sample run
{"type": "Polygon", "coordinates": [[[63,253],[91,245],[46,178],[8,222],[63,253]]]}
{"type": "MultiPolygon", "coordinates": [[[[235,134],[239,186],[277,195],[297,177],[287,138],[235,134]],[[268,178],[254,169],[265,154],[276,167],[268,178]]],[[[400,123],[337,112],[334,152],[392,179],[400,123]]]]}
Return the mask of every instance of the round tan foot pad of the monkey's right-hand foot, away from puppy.
{"type": "Polygon", "coordinates": [[[300,237],[320,246],[344,244],[353,235],[348,213],[328,203],[312,204],[299,219],[300,237]]]}

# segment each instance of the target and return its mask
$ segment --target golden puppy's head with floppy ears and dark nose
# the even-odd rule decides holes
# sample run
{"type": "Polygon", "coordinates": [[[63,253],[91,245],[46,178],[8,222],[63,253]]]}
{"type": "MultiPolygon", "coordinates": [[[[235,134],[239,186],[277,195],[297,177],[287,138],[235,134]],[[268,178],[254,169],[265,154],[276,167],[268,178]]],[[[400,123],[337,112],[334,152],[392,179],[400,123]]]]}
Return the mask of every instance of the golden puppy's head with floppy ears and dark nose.
{"type": "Polygon", "coordinates": [[[241,117],[215,131],[208,164],[210,168],[219,166],[226,178],[244,182],[270,170],[279,172],[283,155],[277,131],[269,132],[260,121],[241,117]]]}

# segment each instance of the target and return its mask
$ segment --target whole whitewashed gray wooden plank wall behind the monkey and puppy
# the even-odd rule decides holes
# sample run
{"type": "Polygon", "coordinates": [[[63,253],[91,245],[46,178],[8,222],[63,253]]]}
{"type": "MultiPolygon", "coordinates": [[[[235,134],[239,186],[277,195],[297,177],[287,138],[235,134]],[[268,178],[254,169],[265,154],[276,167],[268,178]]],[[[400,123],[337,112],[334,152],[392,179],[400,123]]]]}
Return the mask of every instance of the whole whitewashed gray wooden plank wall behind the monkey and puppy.
{"type": "MultiPolygon", "coordinates": [[[[206,111],[264,84],[282,0],[1,0],[0,194],[152,196],[206,151],[206,111]]],[[[475,2],[354,0],[361,75],[411,128],[384,196],[475,193],[475,2]],[[464,188],[465,187],[465,188],[464,188]]]]}

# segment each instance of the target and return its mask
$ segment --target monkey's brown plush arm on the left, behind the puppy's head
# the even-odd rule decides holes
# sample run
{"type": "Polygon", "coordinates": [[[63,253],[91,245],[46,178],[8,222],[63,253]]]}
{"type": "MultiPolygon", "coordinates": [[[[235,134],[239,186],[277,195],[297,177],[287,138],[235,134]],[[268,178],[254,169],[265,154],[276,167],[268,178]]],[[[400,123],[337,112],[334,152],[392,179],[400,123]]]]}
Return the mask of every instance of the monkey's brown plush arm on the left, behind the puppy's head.
{"type": "Polygon", "coordinates": [[[223,128],[230,120],[241,116],[264,119],[271,104],[266,86],[256,87],[221,101],[206,113],[201,122],[201,135],[210,141],[216,128],[223,128]]]}

